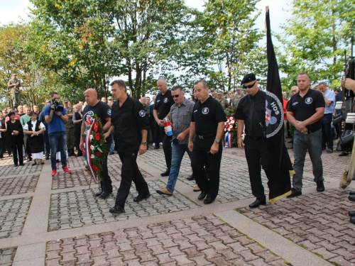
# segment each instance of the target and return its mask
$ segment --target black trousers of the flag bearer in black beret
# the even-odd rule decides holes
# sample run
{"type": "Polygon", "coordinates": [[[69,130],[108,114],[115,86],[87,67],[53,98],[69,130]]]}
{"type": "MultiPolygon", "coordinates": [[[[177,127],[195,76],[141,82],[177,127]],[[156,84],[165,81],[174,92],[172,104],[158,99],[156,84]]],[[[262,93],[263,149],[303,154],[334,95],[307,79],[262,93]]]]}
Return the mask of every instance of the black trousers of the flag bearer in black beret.
{"type": "Polygon", "coordinates": [[[246,136],[244,138],[246,162],[248,162],[251,192],[256,199],[266,199],[264,187],[261,183],[261,166],[268,174],[268,147],[265,138],[254,140],[246,136]]]}

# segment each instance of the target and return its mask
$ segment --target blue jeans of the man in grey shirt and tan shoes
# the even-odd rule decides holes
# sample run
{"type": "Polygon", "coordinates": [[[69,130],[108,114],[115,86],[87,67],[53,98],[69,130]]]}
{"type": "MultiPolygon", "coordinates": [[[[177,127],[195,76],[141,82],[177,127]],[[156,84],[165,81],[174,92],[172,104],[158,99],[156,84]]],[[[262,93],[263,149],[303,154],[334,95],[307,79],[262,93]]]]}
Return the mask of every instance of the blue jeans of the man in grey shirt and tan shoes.
{"type": "Polygon", "coordinates": [[[178,180],[182,157],[184,157],[185,152],[187,152],[187,155],[189,155],[191,160],[191,152],[187,144],[179,144],[179,140],[176,138],[173,140],[171,146],[172,146],[171,167],[170,167],[170,174],[169,174],[168,184],[166,185],[166,189],[168,189],[168,191],[173,193],[175,189],[176,181],[178,180]]]}

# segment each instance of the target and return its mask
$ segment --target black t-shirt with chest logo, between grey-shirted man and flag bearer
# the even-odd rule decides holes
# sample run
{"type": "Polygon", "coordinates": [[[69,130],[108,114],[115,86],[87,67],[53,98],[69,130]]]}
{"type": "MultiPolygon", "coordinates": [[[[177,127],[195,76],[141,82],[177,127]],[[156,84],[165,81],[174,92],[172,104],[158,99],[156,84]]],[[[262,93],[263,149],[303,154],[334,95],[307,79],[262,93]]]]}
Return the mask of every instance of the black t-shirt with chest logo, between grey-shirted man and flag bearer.
{"type": "Polygon", "coordinates": [[[197,101],[192,112],[196,135],[212,135],[217,133],[218,123],[226,121],[226,113],[221,104],[209,96],[202,104],[197,101]]]}

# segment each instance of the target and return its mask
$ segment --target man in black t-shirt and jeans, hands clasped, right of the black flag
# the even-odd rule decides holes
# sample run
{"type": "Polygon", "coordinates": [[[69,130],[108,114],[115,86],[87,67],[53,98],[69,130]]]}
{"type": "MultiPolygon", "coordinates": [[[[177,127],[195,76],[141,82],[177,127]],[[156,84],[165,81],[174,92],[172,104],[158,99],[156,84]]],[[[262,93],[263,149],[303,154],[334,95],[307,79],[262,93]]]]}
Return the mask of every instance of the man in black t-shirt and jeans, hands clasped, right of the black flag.
{"type": "Polygon", "coordinates": [[[306,151],[310,154],[313,166],[314,181],[317,192],[324,192],[322,165],[322,117],[324,116],[324,96],[315,89],[310,89],[310,76],[301,72],[297,76],[297,87],[300,89],[288,101],[288,121],[295,126],[293,135],[293,189],[288,198],[302,195],[302,175],[306,151]]]}

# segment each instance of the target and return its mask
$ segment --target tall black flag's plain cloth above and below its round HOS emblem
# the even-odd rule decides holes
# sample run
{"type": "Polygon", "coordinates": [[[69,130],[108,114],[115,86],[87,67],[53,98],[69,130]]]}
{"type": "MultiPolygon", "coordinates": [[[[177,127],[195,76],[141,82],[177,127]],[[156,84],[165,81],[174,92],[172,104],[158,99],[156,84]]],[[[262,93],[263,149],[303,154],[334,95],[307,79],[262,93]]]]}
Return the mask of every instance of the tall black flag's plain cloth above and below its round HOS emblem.
{"type": "MultiPolygon", "coordinates": [[[[270,17],[268,7],[266,8],[266,40],[268,54],[268,79],[266,90],[275,94],[283,104],[283,93],[281,89],[280,75],[278,74],[278,62],[273,41],[271,40],[270,17]]],[[[285,146],[285,126],[275,133],[271,138],[267,138],[268,145],[268,187],[270,189],[269,201],[274,204],[278,199],[291,194],[290,174],[293,174],[293,167],[290,156],[285,146]]]]}

